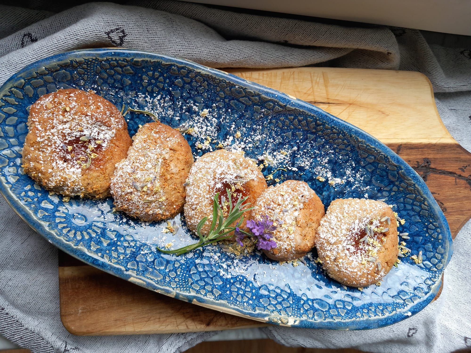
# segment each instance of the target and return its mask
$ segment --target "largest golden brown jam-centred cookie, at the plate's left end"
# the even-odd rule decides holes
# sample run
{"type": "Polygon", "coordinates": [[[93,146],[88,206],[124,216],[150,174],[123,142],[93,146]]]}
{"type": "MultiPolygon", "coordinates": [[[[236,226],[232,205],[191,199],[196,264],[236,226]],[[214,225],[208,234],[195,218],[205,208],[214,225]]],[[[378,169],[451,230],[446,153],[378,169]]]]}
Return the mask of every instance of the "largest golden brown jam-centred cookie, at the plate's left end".
{"type": "Polygon", "coordinates": [[[23,168],[38,184],[66,196],[109,196],[116,162],[131,139],[109,101],[80,89],[59,89],[32,104],[23,168]]]}

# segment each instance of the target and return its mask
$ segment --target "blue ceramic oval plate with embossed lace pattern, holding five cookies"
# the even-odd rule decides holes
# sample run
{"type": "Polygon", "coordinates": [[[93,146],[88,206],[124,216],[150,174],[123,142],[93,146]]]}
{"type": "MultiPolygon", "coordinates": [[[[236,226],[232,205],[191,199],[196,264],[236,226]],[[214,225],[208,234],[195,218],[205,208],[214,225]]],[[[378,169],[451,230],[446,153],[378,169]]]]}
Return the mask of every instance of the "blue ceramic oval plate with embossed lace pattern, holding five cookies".
{"type": "MultiPolygon", "coordinates": [[[[324,329],[392,324],[420,311],[439,290],[452,240],[425,183],[374,137],[311,104],[186,60],[92,49],[28,65],[1,87],[0,105],[1,193],[59,249],[108,273],[227,313],[324,329]],[[244,150],[268,162],[266,176],[306,181],[325,206],[337,198],[385,199],[406,220],[399,230],[409,233],[407,247],[411,255],[422,251],[423,262],[405,257],[381,286],[361,291],[326,276],[312,261],[315,253],[294,265],[257,253],[236,256],[217,244],[180,257],[162,254],[156,246],[195,242],[181,215],[170,220],[178,228],[173,235],[166,233],[167,222],[149,224],[114,212],[111,198],[67,201],[24,174],[29,106],[58,88],[91,89],[120,110],[130,106],[154,112],[172,127],[194,128],[185,137],[195,156],[219,143],[244,150]]],[[[150,118],[129,113],[126,120],[132,136],[150,118]]]]}

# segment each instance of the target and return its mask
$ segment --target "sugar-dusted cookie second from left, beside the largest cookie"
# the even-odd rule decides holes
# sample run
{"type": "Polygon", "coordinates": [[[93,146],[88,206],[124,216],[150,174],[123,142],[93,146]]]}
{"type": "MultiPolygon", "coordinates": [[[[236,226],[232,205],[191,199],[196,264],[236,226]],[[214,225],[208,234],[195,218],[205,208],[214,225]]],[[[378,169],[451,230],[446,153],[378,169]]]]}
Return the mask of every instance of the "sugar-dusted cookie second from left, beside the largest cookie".
{"type": "Polygon", "coordinates": [[[193,164],[187,140],[160,122],[145,124],[133,140],[111,180],[116,209],[149,222],[176,216],[183,210],[183,184],[193,164]]]}

